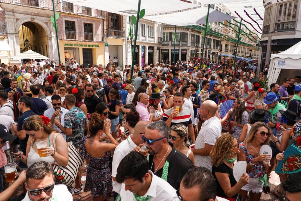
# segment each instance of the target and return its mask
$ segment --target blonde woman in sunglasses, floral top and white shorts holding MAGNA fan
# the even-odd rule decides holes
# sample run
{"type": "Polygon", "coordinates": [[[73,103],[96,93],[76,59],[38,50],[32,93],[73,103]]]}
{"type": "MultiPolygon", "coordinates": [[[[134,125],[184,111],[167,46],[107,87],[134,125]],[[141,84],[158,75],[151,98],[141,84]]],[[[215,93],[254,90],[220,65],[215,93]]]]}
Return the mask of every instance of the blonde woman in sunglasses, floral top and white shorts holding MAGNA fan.
{"type": "Polygon", "coordinates": [[[264,122],[256,122],[252,125],[249,134],[244,142],[239,144],[240,152],[239,160],[247,162],[247,173],[250,176],[249,184],[242,187],[240,194],[243,200],[246,200],[247,192],[249,192],[249,200],[259,201],[263,183],[260,181],[264,178],[265,168],[270,165],[264,162],[271,160],[271,155],[260,155],[262,145],[268,145],[270,142],[270,127],[264,122]]]}

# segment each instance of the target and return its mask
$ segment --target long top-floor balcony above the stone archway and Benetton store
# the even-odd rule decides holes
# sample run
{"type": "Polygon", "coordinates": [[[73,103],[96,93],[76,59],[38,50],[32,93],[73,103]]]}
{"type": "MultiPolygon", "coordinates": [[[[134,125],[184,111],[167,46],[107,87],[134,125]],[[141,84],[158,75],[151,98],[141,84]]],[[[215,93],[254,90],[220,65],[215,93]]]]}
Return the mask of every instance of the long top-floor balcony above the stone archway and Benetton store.
{"type": "MultiPolygon", "coordinates": [[[[52,0],[0,0],[0,2],[34,7],[34,8],[43,8],[46,10],[53,10],[52,0]]],[[[104,18],[101,15],[101,11],[94,8],[80,6],[69,2],[64,2],[61,0],[54,0],[54,5],[55,5],[55,11],[57,12],[104,18]]]]}

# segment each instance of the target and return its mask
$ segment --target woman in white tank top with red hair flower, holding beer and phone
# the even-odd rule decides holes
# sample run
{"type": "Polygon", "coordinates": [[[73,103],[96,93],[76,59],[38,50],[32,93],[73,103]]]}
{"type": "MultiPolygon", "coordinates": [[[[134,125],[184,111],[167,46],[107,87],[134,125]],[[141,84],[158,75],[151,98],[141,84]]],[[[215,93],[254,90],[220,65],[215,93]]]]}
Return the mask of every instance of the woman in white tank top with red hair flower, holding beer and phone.
{"type": "Polygon", "coordinates": [[[60,133],[56,133],[53,130],[48,117],[44,115],[30,116],[24,120],[22,128],[29,135],[26,154],[24,155],[21,151],[17,152],[14,155],[15,158],[20,159],[28,167],[40,161],[57,162],[58,165],[62,166],[68,165],[67,142],[60,133]],[[54,140],[55,147],[53,144],[54,140]]]}

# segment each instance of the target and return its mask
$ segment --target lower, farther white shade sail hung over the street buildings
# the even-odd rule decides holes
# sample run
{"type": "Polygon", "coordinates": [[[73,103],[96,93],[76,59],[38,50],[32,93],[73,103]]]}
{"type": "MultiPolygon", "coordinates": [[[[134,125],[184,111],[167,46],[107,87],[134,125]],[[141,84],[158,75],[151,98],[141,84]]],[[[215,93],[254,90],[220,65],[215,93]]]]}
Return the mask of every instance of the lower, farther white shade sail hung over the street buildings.
{"type": "MultiPolygon", "coordinates": [[[[188,26],[196,24],[206,24],[208,7],[195,8],[182,12],[175,12],[164,15],[146,16],[144,19],[153,20],[163,24],[171,24],[176,26],[188,26]]],[[[225,13],[209,9],[209,23],[219,22],[224,20],[231,20],[236,17],[227,15],[225,13]]]]}

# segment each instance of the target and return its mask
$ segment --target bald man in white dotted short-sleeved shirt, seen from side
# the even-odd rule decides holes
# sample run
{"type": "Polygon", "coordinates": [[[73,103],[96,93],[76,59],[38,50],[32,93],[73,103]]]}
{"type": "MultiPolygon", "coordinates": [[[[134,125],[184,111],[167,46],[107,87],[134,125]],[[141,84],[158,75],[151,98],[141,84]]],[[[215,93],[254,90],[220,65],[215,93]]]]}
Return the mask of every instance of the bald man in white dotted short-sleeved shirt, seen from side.
{"type": "Polygon", "coordinates": [[[216,116],[217,105],[211,100],[206,100],[201,106],[201,116],[206,119],[202,124],[201,130],[195,140],[194,163],[197,167],[204,167],[212,171],[212,164],[209,153],[217,138],[222,135],[222,124],[216,116]]]}

